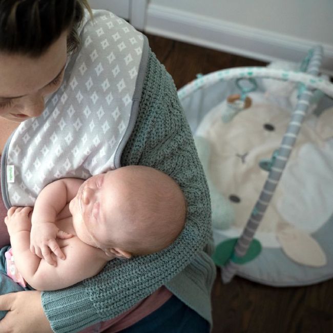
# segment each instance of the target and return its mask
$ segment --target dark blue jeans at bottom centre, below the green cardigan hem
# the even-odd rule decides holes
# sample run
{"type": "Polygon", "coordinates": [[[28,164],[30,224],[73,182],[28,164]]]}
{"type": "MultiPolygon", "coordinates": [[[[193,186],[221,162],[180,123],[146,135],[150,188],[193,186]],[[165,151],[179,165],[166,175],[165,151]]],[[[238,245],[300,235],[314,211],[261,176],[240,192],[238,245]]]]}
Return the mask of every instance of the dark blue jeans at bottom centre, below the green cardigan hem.
{"type": "Polygon", "coordinates": [[[209,333],[210,325],[176,296],[119,333],[209,333]]]}

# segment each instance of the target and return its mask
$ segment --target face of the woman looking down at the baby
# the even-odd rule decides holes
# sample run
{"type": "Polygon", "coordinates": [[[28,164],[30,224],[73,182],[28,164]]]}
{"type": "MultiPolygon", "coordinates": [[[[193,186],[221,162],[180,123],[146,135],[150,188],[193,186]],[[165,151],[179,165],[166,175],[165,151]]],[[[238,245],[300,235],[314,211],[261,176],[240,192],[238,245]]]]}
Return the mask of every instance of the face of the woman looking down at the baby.
{"type": "Polygon", "coordinates": [[[66,60],[67,32],[37,58],[0,51],[0,118],[22,122],[43,113],[45,97],[63,81],[66,60]]]}

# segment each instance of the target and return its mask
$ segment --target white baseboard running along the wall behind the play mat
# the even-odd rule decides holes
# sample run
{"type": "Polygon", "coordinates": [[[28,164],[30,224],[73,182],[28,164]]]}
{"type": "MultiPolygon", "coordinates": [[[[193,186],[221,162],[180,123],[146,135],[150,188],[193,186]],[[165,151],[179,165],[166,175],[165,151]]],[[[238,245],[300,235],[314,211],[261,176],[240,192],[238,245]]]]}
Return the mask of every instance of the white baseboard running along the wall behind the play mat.
{"type": "MultiPolygon", "coordinates": [[[[319,44],[155,4],[148,5],[144,31],[268,62],[299,62],[311,47],[319,44]]],[[[333,76],[333,45],[321,45],[321,71],[333,76]]]]}

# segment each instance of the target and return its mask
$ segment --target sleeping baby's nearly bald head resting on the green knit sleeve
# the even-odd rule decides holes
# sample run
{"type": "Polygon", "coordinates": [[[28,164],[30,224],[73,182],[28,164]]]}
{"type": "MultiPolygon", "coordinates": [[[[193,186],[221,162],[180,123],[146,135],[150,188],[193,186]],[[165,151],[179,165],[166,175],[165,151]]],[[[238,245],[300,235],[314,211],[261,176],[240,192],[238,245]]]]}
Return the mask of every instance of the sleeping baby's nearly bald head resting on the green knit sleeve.
{"type": "Polygon", "coordinates": [[[177,238],[185,223],[179,185],[148,166],[124,166],[93,176],[74,200],[79,207],[79,214],[71,209],[77,236],[110,257],[158,252],[177,238]]]}

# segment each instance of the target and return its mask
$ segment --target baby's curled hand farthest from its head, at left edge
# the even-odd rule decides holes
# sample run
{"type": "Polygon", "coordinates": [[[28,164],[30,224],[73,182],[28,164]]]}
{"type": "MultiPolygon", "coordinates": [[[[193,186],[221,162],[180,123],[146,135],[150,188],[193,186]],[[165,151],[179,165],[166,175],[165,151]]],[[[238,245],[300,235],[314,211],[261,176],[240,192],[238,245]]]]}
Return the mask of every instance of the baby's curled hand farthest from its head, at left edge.
{"type": "Polygon", "coordinates": [[[31,216],[29,214],[32,211],[32,207],[11,207],[7,216],[5,217],[5,223],[10,236],[20,231],[29,231],[31,229],[31,216]]]}

